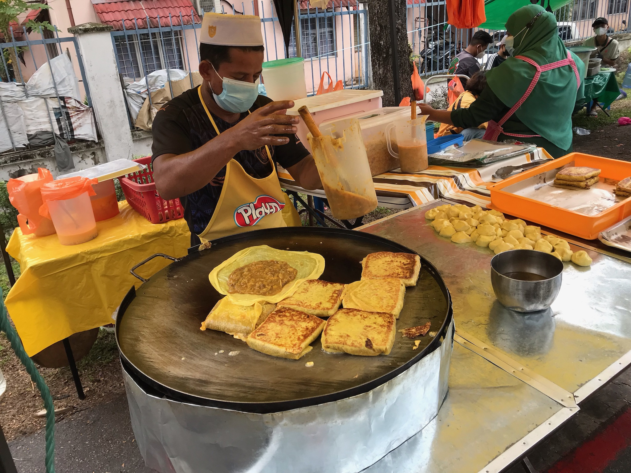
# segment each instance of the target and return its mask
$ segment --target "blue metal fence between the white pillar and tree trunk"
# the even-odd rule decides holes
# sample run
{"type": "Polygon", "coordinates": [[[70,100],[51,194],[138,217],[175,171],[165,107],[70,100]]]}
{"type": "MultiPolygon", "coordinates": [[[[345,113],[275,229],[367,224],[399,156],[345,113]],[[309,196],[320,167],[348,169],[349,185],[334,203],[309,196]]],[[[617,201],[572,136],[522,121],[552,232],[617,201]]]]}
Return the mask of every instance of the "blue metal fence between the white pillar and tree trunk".
{"type": "MultiPolygon", "coordinates": [[[[308,1],[299,1],[298,37],[300,54],[305,59],[305,82],[308,95],[318,89],[322,74],[329,73],[336,82],[343,81],[345,88],[366,88],[369,84],[368,11],[357,0],[336,0],[334,8],[310,8],[308,1]]],[[[213,8],[214,11],[214,8],[213,8]]],[[[160,69],[196,71],[199,66],[199,28],[196,12],[191,10],[193,24],[179,17],[136,18],[121,20],[122,30],[111,32],[116,64],[123,83],[148,81],[149,74],[160,69]],[[132,28],[128,25],[131,23],[132,28]],[[139,27],[139,23],[146,27],[139,27]],[[159,25],[159,26],[157,26],[159,25]]],[[[221,7],[226,15],[257,15],[261,17],[265,42],[265,60],[274,61],[296,57],[298,48],[292,26],[288,51],[281,33],[280,23],[269,0],[255,4],[242,2],[221,7]]],[[[200,12],[203,15],[203,11],[200,12]]],[[[199,18],[199,17],[198,17],[199,18]]],[[[188,21],[191,23],[191,20],[188,21]]],[[[191,86],[192,75],[189,74],[191,86]]],[[[172,87],[167,74],[168,87],[172,87]]],[[[262,75],[262,82],[265,75],[262,75]]],[[[328,78],[324,81],[328,84],[328,78]]],[[[171,89],[172,90],[172,89],[171,89]]],[[[149,96],[151,101],[151,96],[149,96]]],[[[130,120],[131,124],[131,120],[130,120]]]]}

